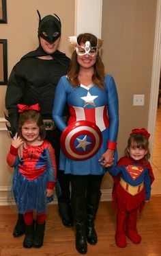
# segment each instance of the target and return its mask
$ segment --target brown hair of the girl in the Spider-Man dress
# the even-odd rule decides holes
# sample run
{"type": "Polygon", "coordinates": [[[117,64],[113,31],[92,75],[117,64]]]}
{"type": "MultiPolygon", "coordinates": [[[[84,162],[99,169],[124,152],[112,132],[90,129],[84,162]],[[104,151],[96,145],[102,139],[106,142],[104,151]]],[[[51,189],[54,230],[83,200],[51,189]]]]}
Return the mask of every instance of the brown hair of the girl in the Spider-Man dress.
{"type": "Polygon", "coordinates": [[[37,126],[40,129],[40,139],[43,140],[45,139],[46,136],[46,131],[44,127],[44,123],[42,120],[42,117],[40,115],[40,112],[36,110],[25,110],[23,113],[20,113],[20,118],[18,121],[18,135],[23,138],[22,135],[22,126],[25,124],[27,121],[35,121],[37,126]]]}

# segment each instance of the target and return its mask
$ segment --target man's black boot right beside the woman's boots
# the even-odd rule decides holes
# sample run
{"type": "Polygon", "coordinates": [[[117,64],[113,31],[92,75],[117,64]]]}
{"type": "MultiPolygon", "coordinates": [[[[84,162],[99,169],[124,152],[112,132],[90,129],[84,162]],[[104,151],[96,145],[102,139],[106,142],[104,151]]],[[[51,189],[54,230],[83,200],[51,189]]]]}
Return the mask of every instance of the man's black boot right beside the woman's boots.
{"type": "Polygon", "coordinates": [[[64,226],[73,226],[73,215],[71,204],[68,200],[58,199],[59,215],[64,226]]]}

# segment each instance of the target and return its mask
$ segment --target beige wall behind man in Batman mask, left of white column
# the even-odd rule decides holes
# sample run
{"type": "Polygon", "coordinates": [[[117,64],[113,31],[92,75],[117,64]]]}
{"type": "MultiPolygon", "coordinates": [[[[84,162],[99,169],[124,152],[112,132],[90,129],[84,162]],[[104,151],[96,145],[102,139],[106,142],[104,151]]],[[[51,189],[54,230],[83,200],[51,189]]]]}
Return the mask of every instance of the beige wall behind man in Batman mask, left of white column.
{"type": "MultiPolygon", "coordinates": [[[[57,14],[61,19],[62,36],[60,51],[71,56],[71,47],[68,44],[68,36],[74,34],[74,0],[8,0],[8,23],[0,23],[0,38],[8,39],[8,75],[12,67],[21,56],[38,47],[38,14],[42,18],[48,14],[57,14]],[[68,2],[68,4],[67,4],[68,2]],[[65,5],[64,5],[65,4],[65,5]]],[[[73,50],[73,49],[72,49],[73,50]]],[[[0,86],[0,199],[5,201],[5,195],[10,181],[12,168],[6,164],[6,154],[10,148],[10,136],[3,131],[5,123],[1,122],[5,110],[6,86],[0,86]]]]}

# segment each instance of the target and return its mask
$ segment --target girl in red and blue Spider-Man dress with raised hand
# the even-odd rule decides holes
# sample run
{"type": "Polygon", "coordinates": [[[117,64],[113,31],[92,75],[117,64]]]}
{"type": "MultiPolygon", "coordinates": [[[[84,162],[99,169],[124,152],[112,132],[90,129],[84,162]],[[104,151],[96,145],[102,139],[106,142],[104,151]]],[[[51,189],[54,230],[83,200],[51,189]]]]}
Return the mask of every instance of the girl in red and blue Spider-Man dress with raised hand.
{"type": "Polygon", "coordinates": [[[18,104],[18,108],[18,134],[12,140],[7,162],[15,169],[12,191],[18,213],[23,214],[25,220],[23,246],[39,248],[44,239],[46,205],[53,200],[57,173],[55,152],[44,140],[45,129],[39,104],[30,107],[18,104]],[[26,143],[23,158],[18,159],[18,148],[23,143],[26,143]],[[36,223],[33,221],[33,210],[37,213],[36,223]]]}

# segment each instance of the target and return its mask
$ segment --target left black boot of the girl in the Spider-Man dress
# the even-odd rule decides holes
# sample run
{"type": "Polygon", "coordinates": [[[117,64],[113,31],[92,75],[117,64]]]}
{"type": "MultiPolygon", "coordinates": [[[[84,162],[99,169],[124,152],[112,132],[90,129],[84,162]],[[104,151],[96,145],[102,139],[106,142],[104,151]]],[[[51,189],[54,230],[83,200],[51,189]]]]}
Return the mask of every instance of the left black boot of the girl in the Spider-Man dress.
{"type": "Polygon", "coordinates": [[[25,224],[25,239],[23,240],[23,247],[31,248],[33,246],[34,223],[31,225],[25,224]]]}

